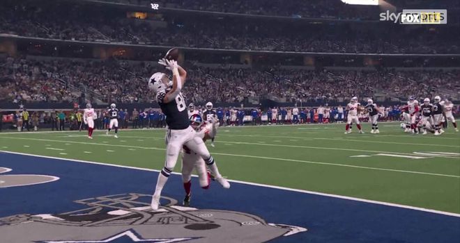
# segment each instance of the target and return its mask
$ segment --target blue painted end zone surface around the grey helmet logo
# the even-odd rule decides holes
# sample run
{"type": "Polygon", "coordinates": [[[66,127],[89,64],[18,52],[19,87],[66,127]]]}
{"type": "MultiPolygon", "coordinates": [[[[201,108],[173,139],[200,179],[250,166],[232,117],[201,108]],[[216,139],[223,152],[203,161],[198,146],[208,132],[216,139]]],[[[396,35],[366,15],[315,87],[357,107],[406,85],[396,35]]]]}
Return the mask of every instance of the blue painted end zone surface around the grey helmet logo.
{"type": "MultiPolygon", "coordinates": [[[[6,174],[59,176],[52,183],[0,188],[0,217],[78,210],[72,201],[95,196],[153,193],[157,172],[92,165],[69,160],[0,153],[6,174]]],[[[192,206],[247,212],[268,223],[308,228],[305,233],[278,237],[273,242],[458,242],[460,218],[430,212],[336,199],[232,183],[224,190],[212,183],[201,190],[192,179],[192,206]]],[[[172,175],[164,196],[183,199],[181,177],[172,175]]]]}

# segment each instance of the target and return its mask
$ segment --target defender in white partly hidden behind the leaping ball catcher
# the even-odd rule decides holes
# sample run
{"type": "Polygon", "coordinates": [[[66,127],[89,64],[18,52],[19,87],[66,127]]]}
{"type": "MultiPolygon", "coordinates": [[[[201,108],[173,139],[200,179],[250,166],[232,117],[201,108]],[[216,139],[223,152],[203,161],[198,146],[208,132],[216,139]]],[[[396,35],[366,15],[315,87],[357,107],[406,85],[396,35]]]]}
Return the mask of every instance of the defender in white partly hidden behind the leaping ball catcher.
{"type": "MultiPolygon", "coordinates": [[[[190,125],[197,131],[198,137],[206,142],[207,139],[215,137],[217,126],[210,121],[203,121],[200,115],[192,115],[190,117],[190,125]]],[[[194,151],[190,150],[187,146],[183,146],[182,153],[182,181],[185,190],[185,197],[183,201],[184,206],[190,206],[190,197],[192,196],[192,171],[196,169],[199,185],[203,189],[208,189],[211,175],[206,170],[206,164],[194,151]]],[[[222,185],[224,188],[229,188],[229,184],[222,185]],[[228,186],[228,187],[227,187],[228,186]]]]}

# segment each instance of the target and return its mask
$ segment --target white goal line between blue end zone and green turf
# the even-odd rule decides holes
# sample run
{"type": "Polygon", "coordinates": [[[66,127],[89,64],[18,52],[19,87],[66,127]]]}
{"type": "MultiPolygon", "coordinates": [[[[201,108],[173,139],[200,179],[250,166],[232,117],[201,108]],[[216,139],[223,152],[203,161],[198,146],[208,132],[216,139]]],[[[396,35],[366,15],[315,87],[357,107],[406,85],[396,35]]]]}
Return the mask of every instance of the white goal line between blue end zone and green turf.
{"type": "MultiPolygon", "coordinates": [[[[39,158],[51,158],[51,159],[54,159],[54,160],[68,160],[68,161],[82,162],[82,163],[88,163],[88,164],[94,164],[94,165],[105,165],[105,166],[110,166],[110,167],[120,167],[120,168],[126,168],[126,169],[139,169],[139,170],[144,170],[144,171],[160,172],[160,170],[158,170],[158,169],[146,169],[146,168],[125,166],[125,165],[111,165],[111,164],[105,164],[105,163],[101,163],[101,162],[92,162],[92,161],[86,161],[86,160],[75,160],[75,159],[70,159],[70,158],[58,158],[58,157],[52,157],[52,156],[38,156],[38,155],[35,155],[35,154],[30,154],[30,153],[17,153],[17,152],[10,152],[10,151],[0,151],[0,152],[19,154],[19,155],[22,155],[22,156],[33,156],[33,157],[39,157],[39,158]]],[[[178,172],[172,172],[172,174],[181,175],[178,172]]],[[[193,176],[196,177],[195,175],[193,175],[193,176]]],[[[319,196],[328,196],[328,197],[333,197],[333,198],[337,198],[337,199],[360,201],[360,202],[364,202],[364,203],[374,203],[374,204],[378,204],[378,205],[390,206],[390,207],[395,207],[395,208],[406,208],[406,209],[417,210],[417,211],[422,211],[422,212],[431,212],[431,213],[436,213],[438,215],[447,215],[447,216],[453,216],[453,217],[460,217],[460,214],[457,214],[457,213],[454,213],[454,212],[445,212],[445,211],[433,210],[433,209],[428,209],[428,208],[419,208],[419,207],[414,207],[414,206],[407,206],[407,205],[402,205],[402,204],[397,204],[397,203],[386,203],[386,202],[383,202],[383,201],[360,199],[360,198],[356,198],[356,197],[352,197],[352,196],[341,196],[341,195],[328,194],[328,193],[323,193],[323,192],[312,192],[312,191],[307,191],[307,190],[293,189],[293,188],[289,188],[289,187],[279,187],[279,186],[276,186],[276,185],[250,183],[250,182],[245,182],[245,181],[236,181],[236,180],[228,180],[228,181],[231,181],[233,183],[245,184],[245,185],[255,185],[255,186],[258,186],[258,187],[269,187],[269,188],[274,188],[274,189],[279,189],[279,190],[286,190],[286,191],[291,191],[291,192],[301,192],[301,193],[314,194],[314,195],[319,195],[319,196]]]]}

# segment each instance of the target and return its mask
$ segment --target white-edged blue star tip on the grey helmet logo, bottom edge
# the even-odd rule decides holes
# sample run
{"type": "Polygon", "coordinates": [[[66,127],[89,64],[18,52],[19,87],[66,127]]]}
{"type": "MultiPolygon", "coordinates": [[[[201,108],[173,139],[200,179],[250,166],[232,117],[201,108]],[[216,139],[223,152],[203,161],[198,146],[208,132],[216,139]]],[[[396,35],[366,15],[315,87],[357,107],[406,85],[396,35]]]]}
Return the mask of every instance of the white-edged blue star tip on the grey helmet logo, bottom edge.
{"type": "Polygon", "coordinates": [[[150,242],[150,243],[171,243],[185,242],[187,240],[195,240],[200,237],[178,237],[178,238],[151,238],[144,239],[136,231],[130,229],[122,233],[107,237],[104,240],[46,240],[40,243],[127,243],[127,242],[150,242]]]}

